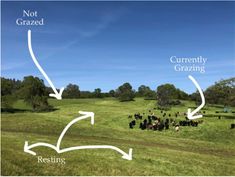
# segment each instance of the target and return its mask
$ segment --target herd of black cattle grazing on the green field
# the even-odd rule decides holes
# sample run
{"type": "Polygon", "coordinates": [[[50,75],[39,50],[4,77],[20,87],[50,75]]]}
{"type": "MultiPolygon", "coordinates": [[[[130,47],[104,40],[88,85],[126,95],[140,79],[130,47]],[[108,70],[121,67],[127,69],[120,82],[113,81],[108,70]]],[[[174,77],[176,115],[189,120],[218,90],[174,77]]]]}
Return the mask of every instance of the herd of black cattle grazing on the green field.
{"type": "MultiPolygon", "coordinates": [[[[203,114],[206,112],[203,111],[203,114]]],[[[164,111],[161,111],[162,118],[154,115],[154,113],[149,110],[149,113],[136,113],[134,115],[129,115],[128,118],[132,119],[129,122],[129,128],[133,129],[138,127],[141,130],[168,130],[170,126],[174,127],[176,131],[179,131],[180,126],[192,126],[197,127],[199,124],[203,123],[203,120],[189,120],[186,113],[176,112],[173,115],[167,114],[164,111]],[[180,116],[184,116],[185,120],[177,121],[176,119],[180,116]],[[147,118],[144,118],[147,117],[147,118]],[[137,125],[139,123],[139,125],[137,125]]],[[[221,119],[221,116],[218,116],[218,119],[221,119]]],[[[231,124],[231,129],[235,129],[235,124],[231,124]]]]}

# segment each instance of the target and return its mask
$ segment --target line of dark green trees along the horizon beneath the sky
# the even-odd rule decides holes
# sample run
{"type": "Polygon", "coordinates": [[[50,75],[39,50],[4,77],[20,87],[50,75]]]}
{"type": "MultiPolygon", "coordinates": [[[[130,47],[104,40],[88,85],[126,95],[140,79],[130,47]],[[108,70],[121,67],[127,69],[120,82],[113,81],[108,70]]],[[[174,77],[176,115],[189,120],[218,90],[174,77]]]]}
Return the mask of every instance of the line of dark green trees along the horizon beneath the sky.
{"type": "MultiPolygon", "coordinates": [[[[34,111],[50,110],[52,107],[48,103],[48,98],[52,92],[53,90],[46,87],[44,81],[38,77],[26,76],[22,81],[1,77],[2,108],[11,108],[18,99],[23,99],[34,111]]],[[[235,78],[216,82],[208,87],[204,94],[207,103],[235,106],[235,78]]],[[[201,100],[198,92],[189,95],[168,83],[158,86],[156,90],[141,85],[137,91],[130,83],[124,83],[109,92],[102,92],[100,88],[94,89],[93,92],[81,91],[78,85],[70,83],[66,86],[62,97],[63,99],[114,97],[120,101],[133,101],[135,97],[143,97],[157,100],[157,105],[161,109],[180,104],[180,100],[193,100],[198,103],[201,100]]]]}

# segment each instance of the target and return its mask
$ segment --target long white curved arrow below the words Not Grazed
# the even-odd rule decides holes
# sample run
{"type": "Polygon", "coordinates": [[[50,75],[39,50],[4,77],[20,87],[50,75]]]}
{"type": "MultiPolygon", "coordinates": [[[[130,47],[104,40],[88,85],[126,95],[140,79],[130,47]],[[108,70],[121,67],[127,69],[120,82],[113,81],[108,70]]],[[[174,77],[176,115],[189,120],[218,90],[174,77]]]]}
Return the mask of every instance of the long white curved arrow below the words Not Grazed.
{"type": "Polygon", "coordinates": [[[45,71],[42,69],[42,67],[40,66],[40,64],[38,63],[34,53],[33,53],[33,49],[32,49],[32,44],[31,44],[31,30],[28,30],[28,48],[29,48],[29,53],[33,59],[33,62],[35,63],[35,65],[37,66],[37,68],[39,69],[39,71],[42,73],[42,75],[45,77],[45,79],[47,80],[47,82],[49,83],[49,85],[51,86],[52,90],[54,91],[54,93],[50,93],[49,96],[50,97],[55,97],[57,100],[61,100],[62,99],[62,93],[64,91],[64,87],[62,87],[60,89],[60,91],[58,92],[54,86],[54,84],[52,83],[52,81],[50,80],[50,78],[47,76],[47,74],[45,73],[45,71]]]}

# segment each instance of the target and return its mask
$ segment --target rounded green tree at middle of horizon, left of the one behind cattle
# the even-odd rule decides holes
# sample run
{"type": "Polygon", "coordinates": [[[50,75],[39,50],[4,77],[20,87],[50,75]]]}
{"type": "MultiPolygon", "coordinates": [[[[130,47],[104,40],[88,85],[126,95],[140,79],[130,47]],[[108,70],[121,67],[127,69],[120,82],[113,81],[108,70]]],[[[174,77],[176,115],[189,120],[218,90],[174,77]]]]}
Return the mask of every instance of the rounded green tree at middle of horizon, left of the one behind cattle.
{"type": "Polygon", "coordinates": [[[132,101],[135,97],[135,93],[134,90],[132,90],[131,84],[124,83],[123,85],[118,87],[116,96],[120,101],[132,101]]]}

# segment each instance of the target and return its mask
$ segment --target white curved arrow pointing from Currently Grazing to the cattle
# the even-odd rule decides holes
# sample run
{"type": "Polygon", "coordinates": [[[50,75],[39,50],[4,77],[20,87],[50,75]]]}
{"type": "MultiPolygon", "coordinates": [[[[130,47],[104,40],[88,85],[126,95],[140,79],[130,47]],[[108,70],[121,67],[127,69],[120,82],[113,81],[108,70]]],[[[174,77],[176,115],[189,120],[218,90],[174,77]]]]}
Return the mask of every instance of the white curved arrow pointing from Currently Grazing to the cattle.
{"type": "Polygon", "coordinates": [[[200,104],[199,107],[197,107],[194,111],[191,112],[191,109],[188,108],[188,113],[187,113],[187,117],[188,119],[198,119],[198,118],[202,118],[202,115],[194,115],[196,114],[198,111],[200,111],[200,109],[202,109],[205,105],[205,97],[204,97],[204,94],[202,92],[202,89],[201,87],[199,86],[199,84],[197,83],[197,81],[193,78],[193,76],[189,75],[188,76],[189,79],[194,83],[194,85],[197,87],[199,93],[200,93],[200,96],[201,96],[201,100],[202,100],[202,103],[200,104]]]}

